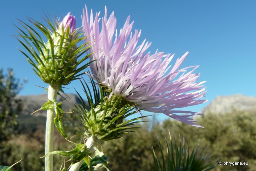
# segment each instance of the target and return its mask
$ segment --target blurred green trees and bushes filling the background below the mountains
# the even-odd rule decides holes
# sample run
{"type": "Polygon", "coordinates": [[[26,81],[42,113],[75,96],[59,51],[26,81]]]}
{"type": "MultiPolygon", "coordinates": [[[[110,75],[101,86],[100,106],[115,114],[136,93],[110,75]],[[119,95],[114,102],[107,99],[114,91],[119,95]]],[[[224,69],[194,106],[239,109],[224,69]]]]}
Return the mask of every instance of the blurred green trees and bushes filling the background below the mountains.
{"type": "MultiPolygon", "coordinates": [[[[20,113],[25,103],[17,98],[21,83],[13,76],[12,70],[4,75],[0,71],[0,165],[12,165],[13,171],[41,171],[44,160],[45,118],[20,113]],[[34,117],[34,118],[33,118],[34,117]]],[[[40,107],[40,106],[39,106],[40,107]]],[[[71,109],[72,110],[72,109],[71,109]]],[[[232,110],[226,113],[206,112],[196,118],[204,128],[192,127],[171,119],[157,122],[153,116],[144,122],[139,132],[129,133],[122,139],[104,142],[102,149],[114,171],[154,170],[151,146],[160,152],[158,141],[165,143],[164,134],[170,133],[179,142],[185,137],[187,146],[201,147],[210,152],[216,162],[248,162],[248,165],[217,166],[216,171],[255,171],[256,170],[256,110],[232,110]]],[[[75,113],[65,116],[64,129],[69,138],[82,130],[81,122],[75,113]]],[[[72,146],[59,133],[55,132],[55,150],[71,150],[72,146]]],[[[79,141],[73,137],[71,140],[79,141]]],[[[160,154],[158,153],[160,156],[160,154]]],[[[63,157],[54,156],[54,170],[59,170],[63,157]]],[[[65,158],[69,166],[68,158],[65,158]]]]}

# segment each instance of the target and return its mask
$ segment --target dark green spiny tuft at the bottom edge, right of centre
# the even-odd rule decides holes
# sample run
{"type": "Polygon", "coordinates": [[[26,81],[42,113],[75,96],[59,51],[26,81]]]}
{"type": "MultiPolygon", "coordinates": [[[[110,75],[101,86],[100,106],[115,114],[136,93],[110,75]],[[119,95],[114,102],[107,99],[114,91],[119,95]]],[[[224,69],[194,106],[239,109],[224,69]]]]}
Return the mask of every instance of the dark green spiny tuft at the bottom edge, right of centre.
{"type": "Polygon", "coordinates": [[[213,161],[213,157],[205,153],[206,150],[200,152],[200,146],[197,148],[193,148],[190,153],[189,149],[186,147],[185,138],[183,141],[180,139],[180,143],[177,145],[175,138],[174,144],[173,141],[167,140],[165,137],[166,145],[167,145],[167,159],[164,158],[164,150],[161,143],[158,141],[158,145],[160,147],[162,162],[160,163],[153,147],[152,153],[155,161],[155,169],[159,171],[191,171],[191,170],[211,170],[216,167],[215,161],[213,161]],[[169,143],[170,141],[170,143],[169,143]],[[176,157],[175,157],[176,156],[176,157]],[[166,163],[167,161],[167,163],[166,163]]]}

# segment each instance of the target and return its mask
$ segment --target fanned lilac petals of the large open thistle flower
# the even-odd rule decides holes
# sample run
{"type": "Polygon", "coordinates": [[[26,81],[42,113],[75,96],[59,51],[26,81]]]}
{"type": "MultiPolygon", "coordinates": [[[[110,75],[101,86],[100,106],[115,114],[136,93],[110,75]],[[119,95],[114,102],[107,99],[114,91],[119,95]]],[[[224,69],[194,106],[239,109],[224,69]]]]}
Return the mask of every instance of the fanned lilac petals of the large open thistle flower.
{"type": "Polygon", "coordinates": [[[92,46],[91,52],[94,52],[90,59],[96,60],[91,64],[92,77],[107,86],[111,94],[122,96],[138,108],[199,126],[189,118],[199,113],[174,110],[207,101],[201,100],[206,93],[204,82],[196,82],[199,74],[193,74],[198,66],[179,69],[188,52],[171,67],[174,55],[157,51],[151,55],[146,52],[151,44],[146,40],[137,46],[141,31],[132,33],[130,17],[118,34],[114,12],[107,18],[105,7],[104,17],[100,19],[99,14],[93,17],[91,11],[89,17],[86,7],[82,17],[83,30],[88,36],[85,42],[91,42],[86,46],[92,46]]]}

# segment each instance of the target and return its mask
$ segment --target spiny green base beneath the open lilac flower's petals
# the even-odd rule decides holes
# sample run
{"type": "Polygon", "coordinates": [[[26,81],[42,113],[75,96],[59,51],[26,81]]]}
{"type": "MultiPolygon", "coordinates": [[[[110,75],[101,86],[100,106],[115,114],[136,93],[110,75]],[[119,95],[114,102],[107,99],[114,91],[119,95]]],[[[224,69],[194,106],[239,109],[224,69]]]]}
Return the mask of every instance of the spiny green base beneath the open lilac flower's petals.
{"type": "Polygon", "coordinates": [[[139,116],[134,119],[125,120],[128,116],[137,113],[135,104],[124,100],[121,96],[112,94],[101,86],[96,86],[91,79],[94,101],[89,90],[88,84],[82,83],[89,105],[83,101],[80,94],[80,103],[76,105],[77,111],[81,114],[81,120],[85,127],[84,136],[88,138],[95,136],[100,140],[111,140],[122,138],[122,135],[129,132],[138,131],[140,127],[132,127],[132,125],[144,122],[140,119],[147,116],[139,116]],[[137,121],[138,120],[138,121],[137,121]]]}

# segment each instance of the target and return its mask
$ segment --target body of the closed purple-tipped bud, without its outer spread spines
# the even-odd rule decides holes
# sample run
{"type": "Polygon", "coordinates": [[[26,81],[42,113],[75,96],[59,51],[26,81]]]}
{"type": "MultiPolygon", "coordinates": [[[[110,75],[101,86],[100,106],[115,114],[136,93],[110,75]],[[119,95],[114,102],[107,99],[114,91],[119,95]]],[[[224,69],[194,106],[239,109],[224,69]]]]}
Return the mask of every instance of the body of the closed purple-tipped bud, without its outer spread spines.
{"type": "Polygon", "coordinates": [[[75,38],[75,24],[75,17],[68,13],[48,39],[46,49],[40,55],[43,63],[39,63],[38,68],[42,72],[40,77],[46,83],[66,85],[74,76],[76,67],[72,66],[76,63],[76,55],[73,55],[76,44],[70,44],[75,38]]]}

